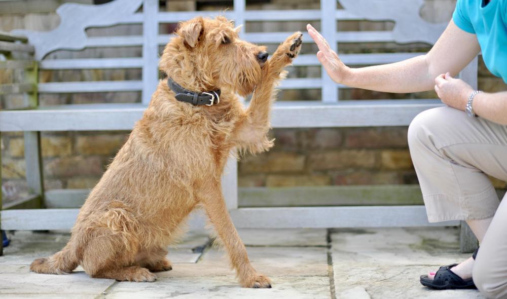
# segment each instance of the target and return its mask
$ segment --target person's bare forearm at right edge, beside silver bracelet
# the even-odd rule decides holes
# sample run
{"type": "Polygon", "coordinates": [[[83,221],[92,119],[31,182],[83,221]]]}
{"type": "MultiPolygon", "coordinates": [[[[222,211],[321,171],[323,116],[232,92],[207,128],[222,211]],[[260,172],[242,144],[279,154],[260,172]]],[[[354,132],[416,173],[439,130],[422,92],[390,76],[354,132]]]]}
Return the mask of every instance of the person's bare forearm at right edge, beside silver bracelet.
{"type": "Polygon", "coordinates": [[[507,91],[479,93],[474,98],[473,109],[484,119],[507,125],[507,91]]]}

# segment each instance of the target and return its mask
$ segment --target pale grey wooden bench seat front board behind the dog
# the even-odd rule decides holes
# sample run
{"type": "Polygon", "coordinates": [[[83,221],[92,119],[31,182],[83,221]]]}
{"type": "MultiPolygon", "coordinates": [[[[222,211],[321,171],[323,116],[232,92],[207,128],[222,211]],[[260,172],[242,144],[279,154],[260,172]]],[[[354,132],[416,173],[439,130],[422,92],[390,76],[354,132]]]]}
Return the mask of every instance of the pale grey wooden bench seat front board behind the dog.
{"type": "MultiPolygon", "coordinates": [[[[277,102],[274,128],[407,126],[439,100],[277,102]]],[[[37,110],[0,111],[0,131],[131,130],[142,117],[141,104],[61,105],[37,110]]]]}

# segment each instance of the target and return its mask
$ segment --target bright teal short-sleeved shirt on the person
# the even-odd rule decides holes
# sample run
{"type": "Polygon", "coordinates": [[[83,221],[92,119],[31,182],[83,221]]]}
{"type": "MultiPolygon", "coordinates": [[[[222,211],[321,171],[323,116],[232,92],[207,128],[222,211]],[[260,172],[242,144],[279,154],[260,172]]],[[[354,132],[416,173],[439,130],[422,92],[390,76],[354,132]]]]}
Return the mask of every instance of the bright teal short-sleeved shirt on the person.
{"type": "Polygon", "coordinates": [[[486,67],[507,83],[507,0],[458,0],[452,19],[477,35],[486,67]]]}

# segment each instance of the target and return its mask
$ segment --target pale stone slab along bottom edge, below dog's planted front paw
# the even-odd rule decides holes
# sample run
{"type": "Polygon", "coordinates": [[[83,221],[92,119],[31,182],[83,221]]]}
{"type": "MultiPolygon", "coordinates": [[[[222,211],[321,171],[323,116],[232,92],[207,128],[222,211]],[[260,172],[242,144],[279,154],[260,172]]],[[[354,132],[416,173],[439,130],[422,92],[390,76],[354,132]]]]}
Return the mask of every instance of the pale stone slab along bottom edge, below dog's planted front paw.
{"type": "Polygon", "coordinates": [[[105,298],[330,298],[328,277],[276,277],[271,289],[241,288],[234,276],[159,278],[153,283],[120,282],[105,298]]]}

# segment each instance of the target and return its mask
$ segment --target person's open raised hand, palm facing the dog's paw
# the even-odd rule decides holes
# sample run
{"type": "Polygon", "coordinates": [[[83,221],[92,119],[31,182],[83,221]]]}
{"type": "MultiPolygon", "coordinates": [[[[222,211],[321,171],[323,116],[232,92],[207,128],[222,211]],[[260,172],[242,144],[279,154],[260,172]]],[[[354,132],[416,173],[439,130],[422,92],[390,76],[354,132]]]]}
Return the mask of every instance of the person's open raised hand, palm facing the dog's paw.
{"type": "Polygon", "coordinates": [[[338,54],[331,49],[328,42],[325,41],[323,36],[312,25],[306,25],[306,29],[315,44],[317,44],[319,49],[317,58],[324,66],[325,71],[328,72],[329,77],[336,83],[345,84],[350,75],[350,68],[340,60],[338,54]]]}

